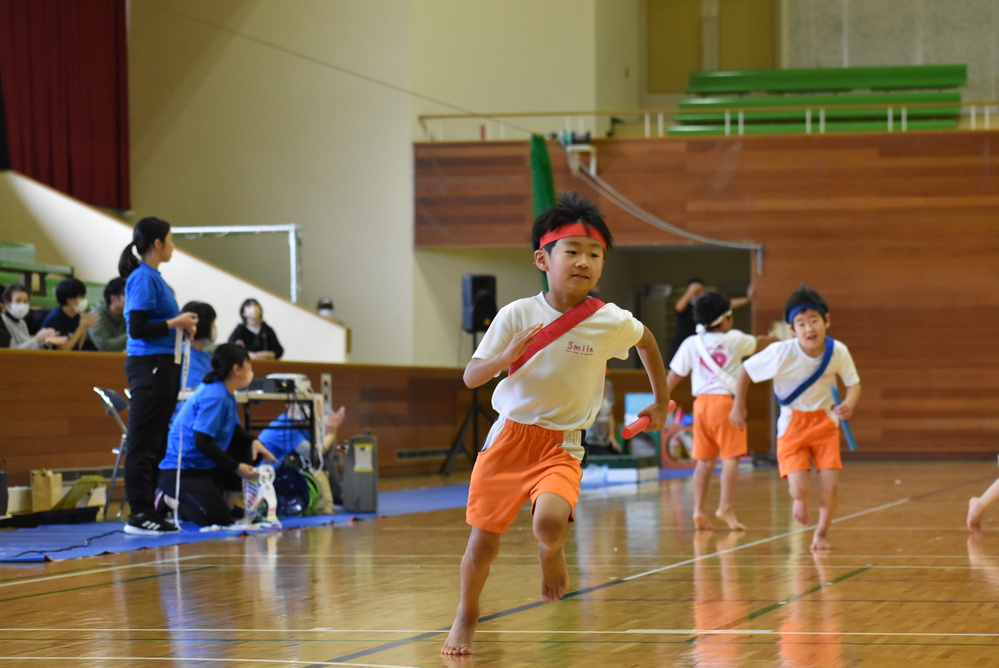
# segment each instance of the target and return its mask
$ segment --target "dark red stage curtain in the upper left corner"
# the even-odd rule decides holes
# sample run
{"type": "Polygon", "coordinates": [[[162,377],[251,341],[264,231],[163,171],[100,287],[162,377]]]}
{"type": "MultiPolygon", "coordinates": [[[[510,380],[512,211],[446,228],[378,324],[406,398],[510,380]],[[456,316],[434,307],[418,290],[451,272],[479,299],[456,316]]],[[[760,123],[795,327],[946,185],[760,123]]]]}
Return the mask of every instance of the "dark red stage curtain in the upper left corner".
{"type": "Polygon", "coordinates": [[[0,0],[0,86],[12,169],[127,209],[125,0],[0,0]]]}

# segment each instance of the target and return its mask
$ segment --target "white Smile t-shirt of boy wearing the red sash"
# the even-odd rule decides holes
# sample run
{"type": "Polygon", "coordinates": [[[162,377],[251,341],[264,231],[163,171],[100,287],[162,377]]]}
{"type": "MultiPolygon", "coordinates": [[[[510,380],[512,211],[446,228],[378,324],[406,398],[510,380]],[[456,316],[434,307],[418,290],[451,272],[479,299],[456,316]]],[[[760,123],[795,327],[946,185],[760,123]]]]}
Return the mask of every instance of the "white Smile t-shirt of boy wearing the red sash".
{"type": "MultiPolygon", "coordinates": [[[[517,332],[548,325],[561,315],[544,293],[511,302],[496,314],[473,357],[498,355],[517,332]]],[[[585,429],[600,410],[607,360],[627,359],[644,333],[645,326],[630,312],[605,304],[501,380],[493,391],[493,408],[501,421],[585,429]]]]}

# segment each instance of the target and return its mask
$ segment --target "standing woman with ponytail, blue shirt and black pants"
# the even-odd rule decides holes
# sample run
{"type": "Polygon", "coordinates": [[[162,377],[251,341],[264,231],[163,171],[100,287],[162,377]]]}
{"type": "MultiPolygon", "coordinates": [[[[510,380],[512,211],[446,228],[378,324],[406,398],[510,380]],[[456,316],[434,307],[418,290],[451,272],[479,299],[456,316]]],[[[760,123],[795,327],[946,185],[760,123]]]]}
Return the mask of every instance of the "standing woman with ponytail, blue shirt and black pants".
{"type": "Polygon", "coordinates": [[[179,360],[174,356],[176,332],[193,333],[198,316],[180,312],[173,290],[160,275],[160,264],[169,262],[173,251],[170,223],[143,218],[118,261],[118,273],[126,279],[125,376],[132,395],[125,442],[125,498],[131,509],[125,532],[131,534],[177,531],[156,512],[156,465],[166,449],[180,389],[179,360]]]}

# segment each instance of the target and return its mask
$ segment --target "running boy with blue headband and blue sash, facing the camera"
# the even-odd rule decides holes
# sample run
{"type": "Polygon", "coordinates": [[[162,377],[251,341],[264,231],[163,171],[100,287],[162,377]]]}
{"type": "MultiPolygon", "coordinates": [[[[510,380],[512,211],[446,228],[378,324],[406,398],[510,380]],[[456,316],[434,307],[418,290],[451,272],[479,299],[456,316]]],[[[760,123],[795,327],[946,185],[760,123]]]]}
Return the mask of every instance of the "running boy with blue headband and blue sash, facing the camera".
{"type": "Polygon", "coordinates": [[[819,472],[822,501],[812,551],[830,548],[827,534],[839,495],[839,420],[849,420],[860,399],[860,376],[846,346],[826,337],[829,308],[819,293],[801,286],[784,306],[784,319],[793,339],[768,346],[743,364],[730,419],[746,426],[746,390],[749,381],[773,379],[781,405],[777,420],[777,465],[787,478],[794,499],[794,519],[809,523],[808,487],[811,461],[819,472]],[[830,390],[836,376],[846,386],[843,403],[833,407],[830,390]]]}

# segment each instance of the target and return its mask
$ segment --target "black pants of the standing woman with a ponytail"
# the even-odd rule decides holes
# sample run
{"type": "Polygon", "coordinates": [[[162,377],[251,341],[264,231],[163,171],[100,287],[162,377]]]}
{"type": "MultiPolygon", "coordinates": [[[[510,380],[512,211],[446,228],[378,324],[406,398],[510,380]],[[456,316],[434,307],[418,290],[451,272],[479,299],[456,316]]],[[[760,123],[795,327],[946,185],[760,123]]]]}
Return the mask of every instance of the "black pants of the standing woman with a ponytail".
{"type": "Polygon", "coordinates": [[[129,355],[125,376],[132,398],[125,437],[125,498],[133,515],[153,512],[160,460],[177,407],[180,366],[173,355],[129,355]]]}

